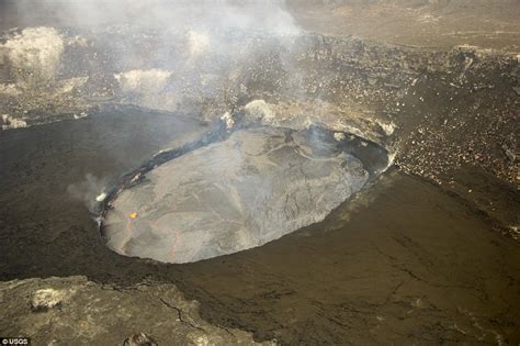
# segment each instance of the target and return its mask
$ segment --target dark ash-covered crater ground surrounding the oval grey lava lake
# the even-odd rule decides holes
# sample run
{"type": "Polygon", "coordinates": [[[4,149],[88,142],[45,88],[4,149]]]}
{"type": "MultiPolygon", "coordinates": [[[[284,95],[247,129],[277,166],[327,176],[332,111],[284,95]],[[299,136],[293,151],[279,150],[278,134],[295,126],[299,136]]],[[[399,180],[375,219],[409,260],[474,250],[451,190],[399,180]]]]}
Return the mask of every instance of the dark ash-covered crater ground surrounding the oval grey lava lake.
{"type": "Polygon", "coordinates": [[[68,5],[0,3],[1,304],[14,311],[0,334],[168,344],[177,319],[192,343],[252,342],[230,327],[282,344],[518,343],[518,1],[68,5]],[[111,252],[95,198],[238,115],[355,135],[396,165],[252,250],[190,265],[111,252]],[[221,328],[170,300],[173,284],[221,328]],[[35,314],[29,295],[47,289],[59,303],[35,314]],[[71,303],[84,294],[90,310],[71,303]],[[146,317],[128,319],[136,304],[146,317]]]}

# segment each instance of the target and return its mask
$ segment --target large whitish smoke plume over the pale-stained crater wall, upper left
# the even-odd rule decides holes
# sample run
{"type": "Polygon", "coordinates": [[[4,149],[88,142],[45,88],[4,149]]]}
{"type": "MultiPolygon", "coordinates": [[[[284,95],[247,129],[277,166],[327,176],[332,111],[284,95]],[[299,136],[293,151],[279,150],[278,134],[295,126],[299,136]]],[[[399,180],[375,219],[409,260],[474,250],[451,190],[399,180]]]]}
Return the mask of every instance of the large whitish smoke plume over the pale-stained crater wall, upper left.
{"type": "Polygon", "coordinates": [[[280,59],[296,70],[282,55],[302,30],[284,0],[19,0],[5,7],[2,26],[13,30],[0,41],[7,66],[0,93],[21,100],[5,112],[14,118],[53,107],[80,113],[90,102],[116,100],[216,119],[235,109],[236,90],[248,92],[244,66],[267,42],[258,37],[287,37],[280,59]]]}

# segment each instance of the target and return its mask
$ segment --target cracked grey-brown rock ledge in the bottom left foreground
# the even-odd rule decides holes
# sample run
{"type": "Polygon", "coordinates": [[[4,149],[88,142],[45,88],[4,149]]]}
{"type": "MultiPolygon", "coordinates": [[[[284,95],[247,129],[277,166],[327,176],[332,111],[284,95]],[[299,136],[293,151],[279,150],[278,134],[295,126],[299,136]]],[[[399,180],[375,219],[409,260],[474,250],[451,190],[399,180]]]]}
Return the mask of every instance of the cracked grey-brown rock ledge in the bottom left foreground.
{"type": "Polygon", "coordinates": [[[31,336],[35,345],[122,345],[128,336],[156,345],[256,344],[246,332],[203,321],[199,303],[171,283],[118,288],[79,276],[7,281],[0,282],[0,333],[31,336]],[[47,309],[32,309],[35,299],[47,309]]]}

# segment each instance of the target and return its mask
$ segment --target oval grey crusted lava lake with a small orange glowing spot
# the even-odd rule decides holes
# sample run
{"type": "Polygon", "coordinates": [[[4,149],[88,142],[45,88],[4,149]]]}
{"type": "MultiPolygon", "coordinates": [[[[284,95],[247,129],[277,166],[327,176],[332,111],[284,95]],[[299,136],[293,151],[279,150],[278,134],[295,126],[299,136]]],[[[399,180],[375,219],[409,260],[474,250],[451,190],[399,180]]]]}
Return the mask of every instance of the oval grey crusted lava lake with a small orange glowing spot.
{"type": "MultiPolygon", "coordinates": [[[[134,175],[103,234],[115,252],[191,263],[252,248],[319,222],[386,165],[366,143],[319,130],[252,126],[134,175]]],[[[359,138],[358,138],[359,139],[359,138]]],[[[149,167],[150,165],[146,166],[149,167]]]]}

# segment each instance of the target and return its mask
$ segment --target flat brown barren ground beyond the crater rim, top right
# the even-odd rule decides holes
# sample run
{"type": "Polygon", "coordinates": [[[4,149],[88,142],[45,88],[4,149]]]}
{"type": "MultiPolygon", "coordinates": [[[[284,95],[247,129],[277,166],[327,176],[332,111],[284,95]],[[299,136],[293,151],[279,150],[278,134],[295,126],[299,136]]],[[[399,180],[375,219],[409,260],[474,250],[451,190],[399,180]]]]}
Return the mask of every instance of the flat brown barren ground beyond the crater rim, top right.
{"type": "Polygon", "coordinates": [[[400,46],[520,49],[516,0],[294,0],[289,4],[304,27],[328,35],[400,46]]]}

